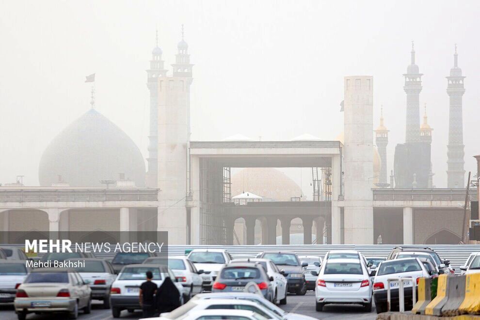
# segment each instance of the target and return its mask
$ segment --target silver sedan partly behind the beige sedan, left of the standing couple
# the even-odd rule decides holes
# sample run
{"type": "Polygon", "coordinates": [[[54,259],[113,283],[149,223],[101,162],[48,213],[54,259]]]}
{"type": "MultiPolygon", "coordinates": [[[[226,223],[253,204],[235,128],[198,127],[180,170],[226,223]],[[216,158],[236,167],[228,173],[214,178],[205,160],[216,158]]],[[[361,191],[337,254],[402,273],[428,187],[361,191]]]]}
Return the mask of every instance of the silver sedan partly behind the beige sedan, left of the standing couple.
{"type": "MultiPolygon", "coordinates": [[[[69,259],[78,261],[78,259],[69,259]]],[[[89,281],[92,299],[103,301],[103,308],[110,309],[110,288],[117,277],[110,262],[97,258],[83,258],[84,267],[74,268],[83,280],[89,281]]]]}

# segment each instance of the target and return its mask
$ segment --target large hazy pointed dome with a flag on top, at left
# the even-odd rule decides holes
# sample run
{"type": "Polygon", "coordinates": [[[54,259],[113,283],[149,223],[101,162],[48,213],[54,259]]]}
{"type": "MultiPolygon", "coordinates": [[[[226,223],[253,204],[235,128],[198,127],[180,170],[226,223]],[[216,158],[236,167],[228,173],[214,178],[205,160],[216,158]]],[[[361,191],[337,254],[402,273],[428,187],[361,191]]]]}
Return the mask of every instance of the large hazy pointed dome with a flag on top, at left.
{"type": "Polygon", "coordinates": [[[145,162],[135,143],[113,122],[90,109],[48,145],[39,166],[42,186],[62,181],[75,187],[104,186],[125,174],[135,186],[145,185],[145,162]]]}

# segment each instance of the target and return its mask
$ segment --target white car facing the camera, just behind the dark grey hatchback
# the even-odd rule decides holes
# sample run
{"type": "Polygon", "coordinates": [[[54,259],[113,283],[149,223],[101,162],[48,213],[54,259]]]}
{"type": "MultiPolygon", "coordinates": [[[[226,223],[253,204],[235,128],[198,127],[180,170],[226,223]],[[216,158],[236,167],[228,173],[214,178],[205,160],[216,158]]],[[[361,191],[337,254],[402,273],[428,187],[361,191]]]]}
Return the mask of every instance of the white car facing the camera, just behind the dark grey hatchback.
{"type": "Polygon", "coordinates": [[[193,249],[188,257],[197,270],[203,270],[202,288],[211,291],[217,274],[232,257],[224,249],[193,249]]]}

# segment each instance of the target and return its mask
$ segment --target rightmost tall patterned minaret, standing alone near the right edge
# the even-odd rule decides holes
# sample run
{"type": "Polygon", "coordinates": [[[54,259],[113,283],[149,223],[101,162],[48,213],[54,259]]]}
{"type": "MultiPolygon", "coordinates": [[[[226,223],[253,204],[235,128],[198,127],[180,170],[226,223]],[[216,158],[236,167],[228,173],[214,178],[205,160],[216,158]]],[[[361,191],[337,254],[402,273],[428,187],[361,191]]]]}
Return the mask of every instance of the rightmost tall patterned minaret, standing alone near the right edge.
{"type": "Polygon", "coordinates": [[[453,68],[450,69],[448,79],[447,93],[450,97],[450,110],[448,118],[448,170],[447,186],[448,188],[465,187],[464,170],[464,133],[462,116],[462,96],[465,93],[464,76],[462,69],[458,67],[457,45],[455,44],[455,54],[453,68]]]}

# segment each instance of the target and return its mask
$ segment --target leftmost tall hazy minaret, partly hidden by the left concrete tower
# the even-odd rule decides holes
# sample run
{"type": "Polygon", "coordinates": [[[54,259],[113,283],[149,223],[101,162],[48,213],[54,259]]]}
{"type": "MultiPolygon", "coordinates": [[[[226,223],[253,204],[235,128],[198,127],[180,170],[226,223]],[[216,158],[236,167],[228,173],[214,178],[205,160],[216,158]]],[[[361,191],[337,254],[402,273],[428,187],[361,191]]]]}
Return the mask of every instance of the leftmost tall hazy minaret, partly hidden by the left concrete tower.
{"type": "Polygon", "coordinates": [[[161,60],[162,51],[159,47],[159,31],[156,33],[155,47],[152,50],[152,60],[150,60],[150,69],[147,72],[147,88],[150,91],[150,131],[148,135],[148,169],[146,175],[146,184],[150,188],[157,187],[158,172],[158,78],[165,77],[167,70],[163,67],[161,60]]]}

